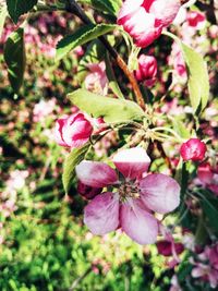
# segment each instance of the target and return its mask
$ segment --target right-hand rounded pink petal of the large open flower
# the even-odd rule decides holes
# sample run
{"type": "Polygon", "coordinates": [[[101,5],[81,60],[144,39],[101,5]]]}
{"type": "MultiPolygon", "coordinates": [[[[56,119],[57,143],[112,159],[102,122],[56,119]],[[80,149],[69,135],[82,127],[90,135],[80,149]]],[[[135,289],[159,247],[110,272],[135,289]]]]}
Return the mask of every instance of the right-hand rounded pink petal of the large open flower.
{"type": "Polygon", "coordinates": [[[152,210],[167,214],[180,204],[180,185],[178,182],[161,173],[145,177],[140,182],[141,199],[152,210]]]}

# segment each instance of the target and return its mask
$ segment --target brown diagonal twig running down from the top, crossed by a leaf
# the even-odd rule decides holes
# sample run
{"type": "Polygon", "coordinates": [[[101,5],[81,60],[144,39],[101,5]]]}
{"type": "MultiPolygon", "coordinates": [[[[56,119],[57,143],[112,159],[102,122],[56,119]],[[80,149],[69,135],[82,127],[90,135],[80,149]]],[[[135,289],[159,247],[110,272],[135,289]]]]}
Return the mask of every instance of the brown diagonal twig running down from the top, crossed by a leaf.
{"type": "MultiPolygon", "coordinates": [[[[89,20],[89,17],[84,13],[82,8],[74,1],[74,0],[68,0],[66,1],[66,11],[75,14],[78,16],[85,24],[93,24],[93,22],[89,20]]],[[[140,105],[140,107],[146,111],[146,106],[143,99],[143,95],[141,93],[140,86],[134,77],[134,74],[129,70],[126,63],[124,60],[120,57],[120,54],[117,52],[117,50],[111,47],[111,45],[108,43],[108,40],[104,37],[99,37],[100,41],[104,44],[106,49],[109,51],[109,53],[114,58],[120,69],[123,71],[123,73],[129,78],[132,88],[135,94],[136,102],[140,105]]]]}

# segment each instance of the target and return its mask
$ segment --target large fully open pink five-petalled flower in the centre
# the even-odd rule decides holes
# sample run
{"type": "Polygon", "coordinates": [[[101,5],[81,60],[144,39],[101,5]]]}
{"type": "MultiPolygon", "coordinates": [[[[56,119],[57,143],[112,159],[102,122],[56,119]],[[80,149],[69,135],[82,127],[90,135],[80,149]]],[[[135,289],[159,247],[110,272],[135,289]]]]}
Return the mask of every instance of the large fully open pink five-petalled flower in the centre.
{"type": "Polygon", "coordinates": [[[114,155],[112,161],[118,173],[99,161],[84,160],[76,166],[82,183],[107,187],[85,207],[85,225],[94,234],[104,235],[120,227],[140,244],[154,243],[158,221],[153,211],[167,214],[179,206],[179,184],[161,173],[142,178],[150,159],[141,147],[123,149],[114,155]]]}

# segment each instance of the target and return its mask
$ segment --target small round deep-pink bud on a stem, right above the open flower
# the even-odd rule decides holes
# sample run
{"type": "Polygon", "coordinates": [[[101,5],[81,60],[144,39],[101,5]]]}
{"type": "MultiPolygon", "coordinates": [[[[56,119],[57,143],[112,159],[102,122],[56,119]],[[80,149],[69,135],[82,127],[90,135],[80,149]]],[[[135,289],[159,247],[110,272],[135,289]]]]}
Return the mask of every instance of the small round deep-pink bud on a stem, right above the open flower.
{"type": "Polygon", "coordinates": [[[183,143],[180,148],[180,154],[183,160],[201,161],[205,157],[207,147],[205,143],[201,142],[198,138],[191,138],[183,143]]]}

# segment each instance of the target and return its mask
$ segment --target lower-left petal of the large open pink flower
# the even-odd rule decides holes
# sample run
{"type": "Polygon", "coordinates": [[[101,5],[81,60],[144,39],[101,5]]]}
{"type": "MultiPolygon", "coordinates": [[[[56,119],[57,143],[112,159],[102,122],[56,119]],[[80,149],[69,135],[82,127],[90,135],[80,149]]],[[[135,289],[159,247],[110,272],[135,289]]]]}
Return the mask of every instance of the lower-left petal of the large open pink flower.
{"type": "Polygon", "coordinates": [[[119,199],[114,193],[97,195],[84,211],[84,222],[94,234],[104,235],[119,226],[119,199]]]}

